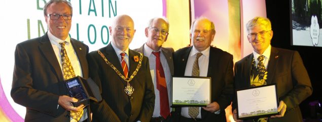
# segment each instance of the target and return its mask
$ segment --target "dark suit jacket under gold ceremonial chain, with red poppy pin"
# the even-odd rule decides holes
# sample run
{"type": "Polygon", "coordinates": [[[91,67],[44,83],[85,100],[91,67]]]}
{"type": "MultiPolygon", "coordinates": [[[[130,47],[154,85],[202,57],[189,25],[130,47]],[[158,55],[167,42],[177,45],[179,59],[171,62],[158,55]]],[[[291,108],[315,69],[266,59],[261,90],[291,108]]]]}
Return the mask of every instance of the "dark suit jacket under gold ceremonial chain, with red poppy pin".
{"type": "MultiPolygon", "coordinates": [[[[112,45],[99,49],[122,74],[122,66],[112,45]]],[[[140,54],[129,50],[129,76],[132,75],[138,62],[133,57],[140,54]]],[[[134,88],[132,96],[124,92],[126,86],[117,73],[105,63],[103,58],[93,51],[88,55],[90,77],[99,86],[103,100],[91,104],[93,121],[150,121],[154,109],[154,87],[149,61],[143,57],[141,67],[130,81],[134,88]]]]}

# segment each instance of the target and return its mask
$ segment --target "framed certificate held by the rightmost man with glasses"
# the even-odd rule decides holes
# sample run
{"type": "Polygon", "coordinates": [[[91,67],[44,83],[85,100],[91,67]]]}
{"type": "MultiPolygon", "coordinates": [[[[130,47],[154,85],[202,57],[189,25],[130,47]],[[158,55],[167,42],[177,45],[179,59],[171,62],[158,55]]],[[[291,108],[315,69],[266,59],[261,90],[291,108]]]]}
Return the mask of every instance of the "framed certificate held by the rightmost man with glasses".
{"type": "Polygon", "coordinates": [[[237,118],[260,118],[279,114],[276,84],[236,90],[237,118]]]}

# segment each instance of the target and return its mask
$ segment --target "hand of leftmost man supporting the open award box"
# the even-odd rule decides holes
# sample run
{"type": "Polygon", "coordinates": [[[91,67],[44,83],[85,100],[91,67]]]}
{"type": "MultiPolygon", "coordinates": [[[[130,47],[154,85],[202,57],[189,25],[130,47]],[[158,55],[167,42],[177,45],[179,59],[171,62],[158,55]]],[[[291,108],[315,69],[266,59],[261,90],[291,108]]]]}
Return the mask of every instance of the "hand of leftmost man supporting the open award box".
{"type": "Polygon", "coordinates": [[[73,104],[71,104],[71,102],[77,102],[78,99],[73,98],[73,97],[68,97],[66,95],[63,96],[59,96],[58,98],[58,104],[63,107],[64,109],[70,111],[80,111],[81,109],[84,109],[84,105],[80,105],[78,107],[74,107],[73,104]]]}

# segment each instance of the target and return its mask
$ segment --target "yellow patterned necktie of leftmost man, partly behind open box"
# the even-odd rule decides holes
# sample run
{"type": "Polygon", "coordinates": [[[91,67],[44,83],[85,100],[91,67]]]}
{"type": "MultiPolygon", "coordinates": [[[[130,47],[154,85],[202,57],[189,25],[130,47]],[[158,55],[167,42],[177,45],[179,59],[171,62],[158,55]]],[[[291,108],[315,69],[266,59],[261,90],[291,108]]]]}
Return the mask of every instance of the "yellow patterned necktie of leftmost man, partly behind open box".
{"type": "MultiPolygon", "coordinates": [[[[65,49],[65,42],[59,43],[61,46],[60,50],[60,56],[61,56],[61,65],[62,65],[62,71],[64,80],[70,79],[75,77],[75,71],[73,69],[73,66],[71,66],[70,60],[67,56],[67,52],[65,49]]],[[[81,117],[83,116],[83,110],[80,111],[70,111],[71,118],[75,119],[76,121],[79,121],[81,117]]]]}

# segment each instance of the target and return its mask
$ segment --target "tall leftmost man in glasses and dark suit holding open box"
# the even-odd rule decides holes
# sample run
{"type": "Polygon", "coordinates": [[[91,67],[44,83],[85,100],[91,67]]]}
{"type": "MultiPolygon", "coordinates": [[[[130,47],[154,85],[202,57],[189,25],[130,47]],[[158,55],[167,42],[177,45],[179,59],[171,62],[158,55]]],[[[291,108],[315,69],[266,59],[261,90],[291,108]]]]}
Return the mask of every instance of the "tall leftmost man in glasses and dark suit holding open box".
{"type": "MultiPolygon", "coordinates": [[[[66,96],[60,55],[64,42],[75,74],[88,78],[88,46],[68,36],[72,9],[67,1],[49,1],[44,7],[47,33],[16,46],[11,97],[26,107],[25,121],[73,121],[69,111],[84,108],[74,107],[71,102],[78,100],[66,96]]],[[[80,121],[89,118],[85,110],[80,121]]]]}

